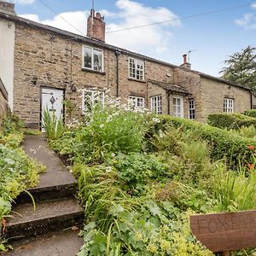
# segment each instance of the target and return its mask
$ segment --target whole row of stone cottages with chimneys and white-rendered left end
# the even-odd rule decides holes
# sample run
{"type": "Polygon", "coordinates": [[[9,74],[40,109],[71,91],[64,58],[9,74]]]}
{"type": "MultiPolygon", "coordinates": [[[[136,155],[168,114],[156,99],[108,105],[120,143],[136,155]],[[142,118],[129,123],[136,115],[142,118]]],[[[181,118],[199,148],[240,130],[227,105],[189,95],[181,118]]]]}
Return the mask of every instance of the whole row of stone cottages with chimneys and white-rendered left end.
{"type": "Polygon", "coordinates": [[[9,105],[26,125],[39,126],[42,110],[65,117],[63,98],[83,115],[88,101],[104,96],[187,119],[209,113],[243,112],[253,107],[250,90],[105,43],[104,18],[90,11],[87,37],[15,15],[0,1],[0,77],[9,105]]]}

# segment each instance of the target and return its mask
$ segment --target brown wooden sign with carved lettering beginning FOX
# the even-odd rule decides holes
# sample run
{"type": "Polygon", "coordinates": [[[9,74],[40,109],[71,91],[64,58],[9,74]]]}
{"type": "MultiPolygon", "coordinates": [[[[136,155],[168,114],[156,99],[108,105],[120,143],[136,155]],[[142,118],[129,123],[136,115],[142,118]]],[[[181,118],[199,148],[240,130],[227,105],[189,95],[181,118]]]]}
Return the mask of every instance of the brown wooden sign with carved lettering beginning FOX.
{"type": "Polygon", "coordinates": [[[256,247],[256,211],[192,215],[190,227],[213,253],[256,247]]]}

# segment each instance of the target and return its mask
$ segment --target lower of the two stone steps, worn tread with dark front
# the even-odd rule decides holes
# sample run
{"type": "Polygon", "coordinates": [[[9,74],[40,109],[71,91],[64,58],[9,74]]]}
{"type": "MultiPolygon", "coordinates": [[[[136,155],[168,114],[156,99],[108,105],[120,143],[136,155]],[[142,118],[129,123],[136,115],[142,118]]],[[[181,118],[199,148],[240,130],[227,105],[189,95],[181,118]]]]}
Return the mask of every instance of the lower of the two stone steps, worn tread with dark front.
{"type": "Polygon", "coordinates": [[[38,236],[82,224],[83,220],[83,209],[75,198],[38,201],[35,211],[32,203],[20,204],[13,207],[12,216],[7,218],[5,238],[14,241],[38,236]]]}

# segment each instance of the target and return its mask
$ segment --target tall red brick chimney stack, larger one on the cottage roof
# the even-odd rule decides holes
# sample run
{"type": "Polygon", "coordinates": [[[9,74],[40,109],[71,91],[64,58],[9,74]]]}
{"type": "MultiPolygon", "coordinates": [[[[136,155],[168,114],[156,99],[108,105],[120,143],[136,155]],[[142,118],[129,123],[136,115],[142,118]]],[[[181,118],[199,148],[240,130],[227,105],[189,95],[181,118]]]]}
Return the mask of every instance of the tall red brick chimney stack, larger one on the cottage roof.
{"type": "Polygon", "coordinates": [[[105,26],[104,17],[91,9],[87,19],[87,37],[105,42],[105,26]]]}

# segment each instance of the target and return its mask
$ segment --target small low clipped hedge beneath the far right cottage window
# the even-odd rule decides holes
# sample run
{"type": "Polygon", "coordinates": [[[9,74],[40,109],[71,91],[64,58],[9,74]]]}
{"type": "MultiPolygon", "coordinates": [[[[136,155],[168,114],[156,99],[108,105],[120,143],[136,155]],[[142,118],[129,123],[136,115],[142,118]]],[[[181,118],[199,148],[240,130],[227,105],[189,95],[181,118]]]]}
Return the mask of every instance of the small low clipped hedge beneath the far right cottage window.
{"type": "Polygon", "coordinates": [[[256,127],[256,118],[241,113],[212,113],[209,114],[207,123],[222,129],[238,130],[242,126],[256,127]]]}

